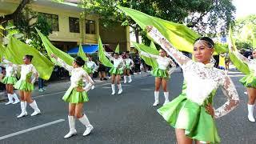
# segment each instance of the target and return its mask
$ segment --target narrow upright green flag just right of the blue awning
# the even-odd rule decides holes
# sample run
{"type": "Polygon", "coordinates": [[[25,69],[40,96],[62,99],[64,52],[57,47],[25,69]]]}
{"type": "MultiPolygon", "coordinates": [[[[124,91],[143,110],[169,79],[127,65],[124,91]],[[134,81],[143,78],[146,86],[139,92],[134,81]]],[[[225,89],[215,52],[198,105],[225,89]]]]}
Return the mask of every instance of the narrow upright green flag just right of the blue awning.
{"type": "Polygon", "coordinates": [[[99,62],[102,62],[102,65],[106,67],[113,67],[113,64],[110,62],[110,59],[106,58],[101,38],[98,38],[98,59],[99,62]]]}

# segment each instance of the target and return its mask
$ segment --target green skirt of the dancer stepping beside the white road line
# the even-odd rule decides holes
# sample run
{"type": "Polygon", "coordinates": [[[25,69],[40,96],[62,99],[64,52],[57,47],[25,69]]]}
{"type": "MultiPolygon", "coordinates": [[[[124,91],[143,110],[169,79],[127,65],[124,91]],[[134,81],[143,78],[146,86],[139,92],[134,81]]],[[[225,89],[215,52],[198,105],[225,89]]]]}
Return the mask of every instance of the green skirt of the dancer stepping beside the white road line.
{"type": "Polygon", "coordinates": [[[89,98],[86,91],[78,92],[76,88],[70,87],[62,97],[62,100],[69,103],[82,103],[88,102],[89,98]]]}

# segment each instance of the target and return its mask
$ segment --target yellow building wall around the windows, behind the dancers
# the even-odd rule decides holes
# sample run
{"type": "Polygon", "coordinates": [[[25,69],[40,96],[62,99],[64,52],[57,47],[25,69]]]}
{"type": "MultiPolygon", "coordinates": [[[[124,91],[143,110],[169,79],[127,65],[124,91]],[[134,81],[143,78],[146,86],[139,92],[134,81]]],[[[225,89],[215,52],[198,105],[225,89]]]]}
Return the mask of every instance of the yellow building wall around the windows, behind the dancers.
{"type": "MultiPolygon", "coordinates": [[[[0,0],[1,1],[1,0],[0,0]]],[[[5,0],[6,10],[15,10],[14,5],[18,6],[17,0],[5,0]],[[8,7],[9,6],[9,7],[8,7]],[[8,8],[7,8],[8,7],[8,8]]],[[[5,11],[2,10],[0,5],[0,14],[4,14],[5,11]]],[[[56,14],[58,15],[58,26],[59,31],[53,31],[49,38],[56,46],[62,46],[62,50],[69,50],[74,44],[97,44],[98,38],[101,35],[103,44],[110,44],[110,46],[115,49],[115,47],[120,43],[120,50],[126,51],[130,50],[130,28],[129,26],[121,26],[119,23],[111,30],[105,30],[99,25],[99,20],[96,15],[87,15],[85,19],[94,20],[95,22],[95,34],[86,34],[86,22],[85,20],[80,21],[80,33],[70,33],[69,17],[79,18],[81,10],[77,7],[70,6],[67,9],[63,8],[61,4],[53,4],[43,0],[33,1],[30,4],[32,10],[46,13],[46,14],[56,14]],[[40,2],[45,2],[44,4],[40,2]]],[[[67,6],[64,6],[67,7],[67,6]]],[[[8,12],[9,14],[11,13],[8,12]]],[[[6,13],[7,14],[7,13],[6,13]]],[[[0,38],[0,42],[2,38],[0,38]]]]}

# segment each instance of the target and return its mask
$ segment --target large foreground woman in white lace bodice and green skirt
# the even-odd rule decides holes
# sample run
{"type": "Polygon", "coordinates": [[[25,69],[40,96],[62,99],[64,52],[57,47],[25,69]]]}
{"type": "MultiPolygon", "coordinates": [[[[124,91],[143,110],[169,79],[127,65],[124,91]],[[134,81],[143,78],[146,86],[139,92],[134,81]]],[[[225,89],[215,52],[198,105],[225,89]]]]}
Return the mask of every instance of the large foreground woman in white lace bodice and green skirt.
{"type": "Polygon", "coordinates": [[[156,28],[146,26],[146,30],[147,35],[182,67],[185,82],[182,94],[158,109],[158,113],[175,128],[178,143],[220,143],[215,118],[234,110],[239,97],[230,77],[223,70],[214,68],[211,61],[214,41],[208,37],[195,40],[194,62],[175,49],[156,28]],[[218,87],[222,87],[227,102],[215,110],[212,104],[218,87]]]}

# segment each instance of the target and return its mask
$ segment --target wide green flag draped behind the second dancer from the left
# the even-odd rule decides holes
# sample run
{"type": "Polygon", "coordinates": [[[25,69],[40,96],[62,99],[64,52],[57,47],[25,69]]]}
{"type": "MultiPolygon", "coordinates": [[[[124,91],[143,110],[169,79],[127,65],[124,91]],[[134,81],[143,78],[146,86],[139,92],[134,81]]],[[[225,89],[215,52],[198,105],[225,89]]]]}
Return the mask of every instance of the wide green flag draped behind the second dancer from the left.
{"type": "Polygon", "coordinates": [[[54,70],[54,64],[38,50],[26,45],[26,43],[23,43],[16,38],[11,37],[5,50],[5,58],[14,64],[21,65],[23,64],[22,58],[26,54],[33,55],[34,58],[32,60],[32,64],[38,71],[39,77],[48,80],[54,70]]]}

